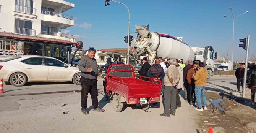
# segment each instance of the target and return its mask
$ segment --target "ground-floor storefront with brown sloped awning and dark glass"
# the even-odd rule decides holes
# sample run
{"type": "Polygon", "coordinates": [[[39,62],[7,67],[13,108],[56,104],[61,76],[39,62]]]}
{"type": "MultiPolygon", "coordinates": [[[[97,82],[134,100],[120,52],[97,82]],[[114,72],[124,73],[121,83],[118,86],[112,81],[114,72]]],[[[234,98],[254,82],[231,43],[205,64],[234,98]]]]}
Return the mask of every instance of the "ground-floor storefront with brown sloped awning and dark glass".
{"type": "Polygon", "coordinates": [[[72,47],[75,43],[37,36],[24,36],[11,33],[0,33],[0,40],[5,42],[22,42],[23,55],[40,55],[57,58],[65,63],[68,62],[68,46],[72,47]]]}

